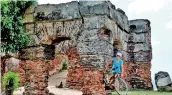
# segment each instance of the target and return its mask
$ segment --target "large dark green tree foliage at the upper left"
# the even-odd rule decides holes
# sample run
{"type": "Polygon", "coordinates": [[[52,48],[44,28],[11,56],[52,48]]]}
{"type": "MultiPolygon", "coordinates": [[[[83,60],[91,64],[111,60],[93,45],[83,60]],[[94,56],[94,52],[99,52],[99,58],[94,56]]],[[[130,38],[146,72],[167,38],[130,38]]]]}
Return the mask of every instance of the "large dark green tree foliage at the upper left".
{"type": "Polygon", "coordinates": [[[27,45],[29,38],[24,33],[23,14],[36,5],[36,0],[1,0],[1,52],[16,52],[27,45]]]}

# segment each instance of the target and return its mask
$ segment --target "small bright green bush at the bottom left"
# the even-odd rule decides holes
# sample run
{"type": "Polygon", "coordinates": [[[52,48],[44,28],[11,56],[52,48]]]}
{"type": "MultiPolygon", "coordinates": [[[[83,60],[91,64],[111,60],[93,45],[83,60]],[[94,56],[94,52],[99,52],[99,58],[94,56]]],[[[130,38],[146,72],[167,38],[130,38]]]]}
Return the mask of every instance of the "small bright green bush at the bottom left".
{"type": "Polygon", "coordinates": [[[3,86],[6,95],[12,95],[13,91],[19,87],[19,76],[14,72],[7,72],[3,75],[3,86]]]}

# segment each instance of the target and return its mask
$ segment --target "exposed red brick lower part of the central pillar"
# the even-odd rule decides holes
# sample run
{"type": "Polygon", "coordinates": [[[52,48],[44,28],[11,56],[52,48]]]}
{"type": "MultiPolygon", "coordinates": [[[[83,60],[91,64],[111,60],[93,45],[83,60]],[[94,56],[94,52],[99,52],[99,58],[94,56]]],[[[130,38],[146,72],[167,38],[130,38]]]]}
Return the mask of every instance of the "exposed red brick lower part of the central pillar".
{"type": "Polygon", "coordinates": [[[103,85],[103,71],[90,64],[82,65],[79,60],[77,48],[69,48],[66,51],[69,57],[67,86],[80,89],[84,94],[105,94],[103,85]]]}

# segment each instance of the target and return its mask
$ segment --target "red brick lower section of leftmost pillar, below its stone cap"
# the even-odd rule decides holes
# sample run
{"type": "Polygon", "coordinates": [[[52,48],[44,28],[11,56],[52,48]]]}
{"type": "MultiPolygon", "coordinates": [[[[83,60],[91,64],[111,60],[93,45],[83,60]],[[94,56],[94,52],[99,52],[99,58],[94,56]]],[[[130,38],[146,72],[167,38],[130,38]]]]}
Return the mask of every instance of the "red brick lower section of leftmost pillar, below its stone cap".
{"type": "Polygon", "coordinates": [[[25,91],[23,95],[48,95],[48,61],[22,61],[25,71],[25,91]]]}

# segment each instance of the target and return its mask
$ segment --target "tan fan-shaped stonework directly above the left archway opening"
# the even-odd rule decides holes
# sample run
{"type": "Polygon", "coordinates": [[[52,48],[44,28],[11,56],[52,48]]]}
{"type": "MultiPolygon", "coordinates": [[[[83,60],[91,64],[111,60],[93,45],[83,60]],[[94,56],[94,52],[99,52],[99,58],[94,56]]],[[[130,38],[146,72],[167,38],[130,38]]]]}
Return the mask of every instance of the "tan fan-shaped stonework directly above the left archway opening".
{"type": "Polygon", "coordinates": [[[81,25],[81,20],[48,23],[39,22],[36,24],[35,32],[42,44],[58,44],[60,42],[60,39],[58,39],[59,37],[67,37],[75,41],[78,32],[82,29],[81,25]]]}

